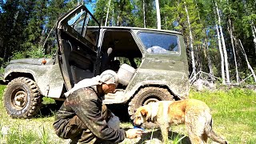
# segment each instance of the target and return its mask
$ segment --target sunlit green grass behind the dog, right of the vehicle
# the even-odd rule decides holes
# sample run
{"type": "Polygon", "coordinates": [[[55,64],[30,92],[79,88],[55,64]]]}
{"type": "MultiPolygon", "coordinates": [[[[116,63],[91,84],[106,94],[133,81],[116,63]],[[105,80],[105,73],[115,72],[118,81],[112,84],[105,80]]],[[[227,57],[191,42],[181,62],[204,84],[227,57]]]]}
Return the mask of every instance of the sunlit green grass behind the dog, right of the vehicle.
{"type": "Polygon", "coordinates": [[[190,98],[206,102],[214,119],[214,130],[230,143],[256,143],[256,93],[237,89],[190,92],[190,98]]]}

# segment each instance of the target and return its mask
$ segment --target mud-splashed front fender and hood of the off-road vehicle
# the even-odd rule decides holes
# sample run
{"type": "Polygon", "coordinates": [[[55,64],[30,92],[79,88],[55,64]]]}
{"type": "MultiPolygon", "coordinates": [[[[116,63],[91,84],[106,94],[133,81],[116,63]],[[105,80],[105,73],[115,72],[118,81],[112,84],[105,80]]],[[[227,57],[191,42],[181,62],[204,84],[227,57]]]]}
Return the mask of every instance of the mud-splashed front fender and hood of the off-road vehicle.
{"type": "Polygon", "coordinates": [[[11,81],[18,77],[30,75],[37,82],[43,96],[60,98],[63,89],[62,72],[58,63],[53,58],[46,58],[46,64],[42,64],[45,58],[26,58],[10,61],[6,66],[4,79],[11,81]]]}

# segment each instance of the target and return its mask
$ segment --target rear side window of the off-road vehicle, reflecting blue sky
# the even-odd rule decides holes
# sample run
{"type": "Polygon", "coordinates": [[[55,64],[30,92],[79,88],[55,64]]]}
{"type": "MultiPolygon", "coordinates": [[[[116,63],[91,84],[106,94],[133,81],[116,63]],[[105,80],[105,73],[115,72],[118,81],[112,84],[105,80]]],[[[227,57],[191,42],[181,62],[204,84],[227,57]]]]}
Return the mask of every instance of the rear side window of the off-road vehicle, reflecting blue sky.
{"type": "Polygon", "coordinates": [[[179,54],[178,37],[164,33],[139,32],[146,51],[151,54],[179,54]]]}

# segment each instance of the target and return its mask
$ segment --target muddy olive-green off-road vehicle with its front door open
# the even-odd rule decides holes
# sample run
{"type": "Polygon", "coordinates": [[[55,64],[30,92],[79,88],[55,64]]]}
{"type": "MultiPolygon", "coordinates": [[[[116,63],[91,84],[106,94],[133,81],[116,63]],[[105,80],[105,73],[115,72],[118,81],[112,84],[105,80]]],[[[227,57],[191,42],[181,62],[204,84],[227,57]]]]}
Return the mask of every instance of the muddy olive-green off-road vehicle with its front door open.
{"type": "Polygon", "coordinates": [[[86,6],[77,6],[58,19],[56,38],[53,58],[16,59],[6,66],[3,102],[12,118],[30,118],[42,97],[64,100],[75,83],[108,69],[118,72],[120,83],[104,103],[128,104],[130,115],[146,103],[188,95],[186,48],[178,32],[100,26],[86,6]]]}

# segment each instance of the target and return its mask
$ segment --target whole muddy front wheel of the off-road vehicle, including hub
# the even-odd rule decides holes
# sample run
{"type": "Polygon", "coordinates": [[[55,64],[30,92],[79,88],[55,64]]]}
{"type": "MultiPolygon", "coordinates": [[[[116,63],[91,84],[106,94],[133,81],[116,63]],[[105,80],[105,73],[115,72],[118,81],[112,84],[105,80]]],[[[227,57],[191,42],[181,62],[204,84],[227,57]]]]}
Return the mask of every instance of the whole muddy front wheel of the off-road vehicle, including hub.
{"type": "Polygon", "coordinates": [[[3,104],[12,118],[31,118],[38,113],[42,97],[37,84],[30,78],[15,78],[6,86],[3,104]]]}

